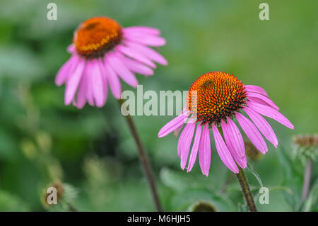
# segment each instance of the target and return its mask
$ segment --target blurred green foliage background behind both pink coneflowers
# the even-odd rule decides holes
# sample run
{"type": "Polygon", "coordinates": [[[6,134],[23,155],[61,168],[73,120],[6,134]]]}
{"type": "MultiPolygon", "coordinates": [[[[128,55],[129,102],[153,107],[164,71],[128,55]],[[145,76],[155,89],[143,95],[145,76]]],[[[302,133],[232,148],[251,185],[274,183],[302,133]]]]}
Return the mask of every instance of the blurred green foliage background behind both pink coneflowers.
{"type": "MultiPolygon", "coordinates": [[[[291,157],[291,136],[317,132],[318,1],[266,1],[269,21],[259,20],[261,2],[2,0],[0,210],[45,210],[43,189],[57,179],[67,183],[78,210],[155,210],[114,97],[103,108],[78,111],[64,106],[64,86],[54,84],[59,67],[69,59],[66,47],[73,30],[93,16],[162,31],[167,45],[159,52],[169,65],[158,66],[154,77],[137,76],[144,91],[187,90],[199,75],[215,70],[264,87],[295,130],[269,120],[279,145],[275,149],[268,143],[268,154],[251,162],[270,188],[269,204],[257,202],[257,207],[299,210],[304,166],[291,157]],[[47,20],[49,2],[57,4],[57,21],[47,20]]],[[[230,171],[214,147],[208,178],[198,162],[189,174],[179,168],[177,139],[157,137],[172,118],[134,116],[163,208],[189,210],[206,200],[219,211],[245,210],[236,179],[221,192],[230,171]]],[[[259,183],[250,171],[246,174],[257,196],[259,183]]],[[[317,174],[316,166],[313,177],[317,174]]],[[[317,210],[317,196],[313,200],[312,210],[317,210]]]]}

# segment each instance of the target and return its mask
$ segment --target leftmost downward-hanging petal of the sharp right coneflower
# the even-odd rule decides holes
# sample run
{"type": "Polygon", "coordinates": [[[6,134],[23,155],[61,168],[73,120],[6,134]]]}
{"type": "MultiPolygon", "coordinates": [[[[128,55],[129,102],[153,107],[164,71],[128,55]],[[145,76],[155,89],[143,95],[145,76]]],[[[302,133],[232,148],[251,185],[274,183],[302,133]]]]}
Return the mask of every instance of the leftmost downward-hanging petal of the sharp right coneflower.
{"type": "Polygon", "coordinates": [[[178,152],[179,158],[181,159],[181,162],[180,162],[181,169],[184,169],[184,167],[187,164],[187,159],[188,159],[189,150],[190,150],[195,128],[196,128],[195,123],[187,123],[187,125],[185,125],[179,137],[177,152],[178,152]]]}

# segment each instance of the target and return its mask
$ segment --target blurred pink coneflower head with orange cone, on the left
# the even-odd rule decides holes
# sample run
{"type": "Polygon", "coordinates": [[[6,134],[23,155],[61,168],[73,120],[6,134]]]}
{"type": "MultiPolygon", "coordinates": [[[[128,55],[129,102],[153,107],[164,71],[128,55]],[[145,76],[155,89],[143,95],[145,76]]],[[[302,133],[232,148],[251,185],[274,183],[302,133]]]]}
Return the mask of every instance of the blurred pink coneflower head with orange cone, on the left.
{"type": "Polygon", "coordinates": [[[71,58],[59,69],[55,83],[66,83],[65,104],[83,108],[102,107],[107,100],[108,86],[115,98],[122,94],[119,78],[136,87],[135,73],[153,75],[158,64],[167,60],[151,47],[165,45],[160,30],[143,26],[122,28],[106,17],[90,18],[81,23],[73,36],[68,52],[71,58]]]}

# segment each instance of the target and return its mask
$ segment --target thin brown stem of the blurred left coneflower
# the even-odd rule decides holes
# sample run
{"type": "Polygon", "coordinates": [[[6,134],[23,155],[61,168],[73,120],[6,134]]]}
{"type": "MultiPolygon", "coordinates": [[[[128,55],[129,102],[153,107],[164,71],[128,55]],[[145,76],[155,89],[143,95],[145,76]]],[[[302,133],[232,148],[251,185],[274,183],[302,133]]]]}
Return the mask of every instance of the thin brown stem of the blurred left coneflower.
{"type": "MultiPolygon", "coordinates": [[[[124,100],[119,99],[118,101],[119,106],[122,106],[122,103],[124,103],[124,100]]],[[[136,125],[134,124],[134,121],[131,118],[131,115],[129,115],[129,113],[126,113],[126,115],[124,115],[124,118],[126,118],[126,122],[129,125],[129,129],[131,131],[131,135],[134,137],[134,140],[136,142],[136,146],[138,149],[138,154],[139,154],[139,161],[141,163],[141,166],[143,166],[143,171],[146,175],[146,179],[149,183],[149,186],[151,188],[151,193],[153,196],[153,200],[155,202],[155,208],[158,212],[162,212],[163,208],[161,207],[161,203],[159,200],[159,196],[158,196],[158,191],[157,188],[155,186],[155,179],[153,177],[153,171],[151,169],[151,163],[149,162],[149,158],[148,158],[148,154],[146,153],[142,143],[141,143],[141,139],[139,137],[139,134],[137,132],[136,129],[136,125]]]]}

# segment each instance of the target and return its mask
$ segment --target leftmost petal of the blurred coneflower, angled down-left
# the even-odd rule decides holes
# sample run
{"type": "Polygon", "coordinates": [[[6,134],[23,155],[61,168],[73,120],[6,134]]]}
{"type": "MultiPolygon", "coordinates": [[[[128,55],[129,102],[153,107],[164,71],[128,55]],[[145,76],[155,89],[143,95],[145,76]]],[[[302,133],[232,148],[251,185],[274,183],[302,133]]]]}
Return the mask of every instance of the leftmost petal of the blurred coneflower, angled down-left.
{"type": "Polygon", "coordinates": [[[64,82],[71,76],[74,69],[76,69],[79,60],[80,59],[77,55],[72,55],[71,58],[63,64],[61,69],[59,69],[59,72],[57,72],[57,77],[55,77],[55,84],[57,84],[57,86],[64,84],[64,82]]]}

